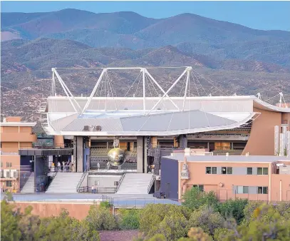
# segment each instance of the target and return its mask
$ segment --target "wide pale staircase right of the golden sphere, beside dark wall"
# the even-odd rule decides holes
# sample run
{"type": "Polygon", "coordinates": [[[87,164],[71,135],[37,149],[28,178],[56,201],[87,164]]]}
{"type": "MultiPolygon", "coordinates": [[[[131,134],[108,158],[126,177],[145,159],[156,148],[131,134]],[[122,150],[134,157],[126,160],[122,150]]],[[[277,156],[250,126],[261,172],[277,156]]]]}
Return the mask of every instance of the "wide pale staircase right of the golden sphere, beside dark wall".
{"type": "Polygon", "coordinates": [[[126,173],[117,194],[147,194],[152,174],[126,173]]]}

